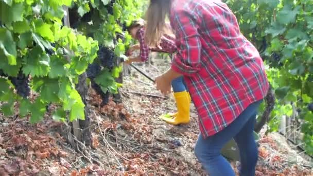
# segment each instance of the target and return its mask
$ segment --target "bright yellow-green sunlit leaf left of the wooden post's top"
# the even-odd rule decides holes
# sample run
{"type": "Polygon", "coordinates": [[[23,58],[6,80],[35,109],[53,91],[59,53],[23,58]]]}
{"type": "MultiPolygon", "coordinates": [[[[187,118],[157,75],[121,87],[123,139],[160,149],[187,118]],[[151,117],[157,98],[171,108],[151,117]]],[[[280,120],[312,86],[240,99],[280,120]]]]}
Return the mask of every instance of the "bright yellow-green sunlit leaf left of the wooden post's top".
{"type": "Polygon", "coordinates": [[[40,34],[44,39],[53,42],[54,33],[52,32],[51,25],[44,23],[42,20],[36,20],[34,22],[35,32],[40,34]]]}

